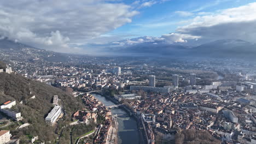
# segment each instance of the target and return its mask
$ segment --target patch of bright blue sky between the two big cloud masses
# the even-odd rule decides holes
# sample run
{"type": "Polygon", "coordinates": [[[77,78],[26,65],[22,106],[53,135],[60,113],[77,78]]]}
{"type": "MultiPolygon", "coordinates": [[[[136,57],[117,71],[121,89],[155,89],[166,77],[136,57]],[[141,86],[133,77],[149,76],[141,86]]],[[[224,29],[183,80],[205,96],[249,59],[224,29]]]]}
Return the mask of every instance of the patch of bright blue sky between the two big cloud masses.
{"type": "MultiPolygon", "coordinates": [[[[131,5],[131,1],[123,1],[131,5]]],[[[133,1],[134,2],[134,1],[133,1]]],[[[106,35],[129,35],[129,38],[150,35],[161,37],[162,34],[172,33],[179,26],[185,25],[181,21],[193,19],[199,13],[218,13],[218,10],[235,8],[253,0],[171,0],[157,3],[151,7],[138,9],[139,14],[127,23],[106,35]],[[177,11],[186,11],[193,15],[182,16],[177,11]],[[132,35],[132,36],[130,36],[132,35]]]]}

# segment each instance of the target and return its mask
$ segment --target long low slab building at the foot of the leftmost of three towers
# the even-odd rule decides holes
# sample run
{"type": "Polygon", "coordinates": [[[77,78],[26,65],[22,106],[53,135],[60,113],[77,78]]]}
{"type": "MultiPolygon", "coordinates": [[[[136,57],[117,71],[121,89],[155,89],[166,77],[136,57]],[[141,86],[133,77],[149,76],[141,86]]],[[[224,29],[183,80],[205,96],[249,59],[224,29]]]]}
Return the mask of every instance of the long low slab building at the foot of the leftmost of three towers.
{"type": "Polygon", "coordinates": [[[143,90],[144,92],[155,92],[155,93],[169,93],[170,87],[148,87],[148,86],[131,86],[130,91],[139,91],[143,90]]]}

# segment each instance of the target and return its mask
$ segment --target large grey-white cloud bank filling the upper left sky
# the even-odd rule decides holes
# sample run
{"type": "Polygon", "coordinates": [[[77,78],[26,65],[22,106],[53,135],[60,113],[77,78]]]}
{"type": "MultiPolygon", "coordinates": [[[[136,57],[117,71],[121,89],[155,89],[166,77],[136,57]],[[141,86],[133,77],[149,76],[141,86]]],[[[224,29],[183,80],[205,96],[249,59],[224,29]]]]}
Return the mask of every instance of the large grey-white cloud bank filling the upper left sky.
{"type": "Polygon", "coordinates": [[[138,11],[103,0],[0,1],[0,35],[49,50],[69,49],[131,22],[138,11]],[[22,7],[21,7],[22,5],[22,7]]]}

